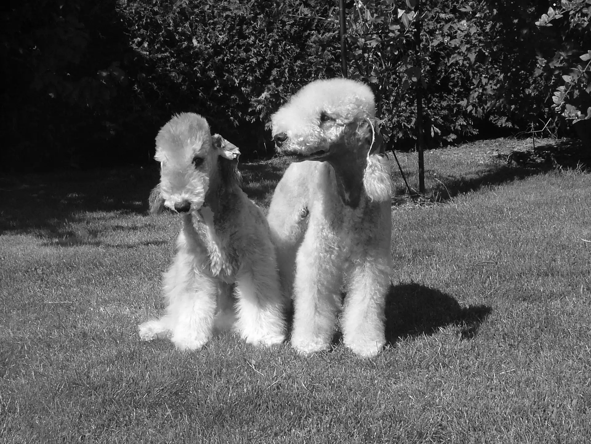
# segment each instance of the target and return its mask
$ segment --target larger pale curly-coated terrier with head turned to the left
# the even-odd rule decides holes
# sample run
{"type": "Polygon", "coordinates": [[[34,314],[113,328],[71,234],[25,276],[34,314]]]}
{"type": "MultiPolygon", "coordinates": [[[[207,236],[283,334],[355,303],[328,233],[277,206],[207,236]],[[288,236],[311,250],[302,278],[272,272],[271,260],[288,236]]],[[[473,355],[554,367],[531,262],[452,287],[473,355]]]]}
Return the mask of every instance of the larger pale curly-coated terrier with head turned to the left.
{"type": "Polygon", "coordinates": [[[345,346],[374,356],[385,344],[392,233],[374,94],[352,80],[314,81],[271,124],[278,152],[304,160],[288,167],[268,215],[282,285],[294,299],[291,344],[300,353],[329,347],[342,305],[345,346]]]}

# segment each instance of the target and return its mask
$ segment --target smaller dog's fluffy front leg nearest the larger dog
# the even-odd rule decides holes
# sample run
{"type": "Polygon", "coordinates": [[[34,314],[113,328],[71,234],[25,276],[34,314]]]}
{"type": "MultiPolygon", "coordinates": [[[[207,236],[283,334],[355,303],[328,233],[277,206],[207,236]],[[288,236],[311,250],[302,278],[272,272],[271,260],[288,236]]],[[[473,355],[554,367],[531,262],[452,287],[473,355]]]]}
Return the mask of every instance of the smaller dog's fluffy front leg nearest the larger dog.
{"type": "Polygon", "coordinates": [[[246,342],[256,346],[285,340],[287,304],[273,259],[260,256],[255,264],[239,272],[236,281],[236,328],[246,342]]]}

